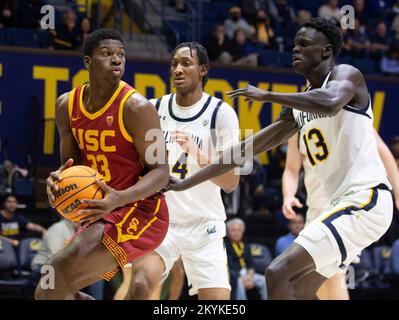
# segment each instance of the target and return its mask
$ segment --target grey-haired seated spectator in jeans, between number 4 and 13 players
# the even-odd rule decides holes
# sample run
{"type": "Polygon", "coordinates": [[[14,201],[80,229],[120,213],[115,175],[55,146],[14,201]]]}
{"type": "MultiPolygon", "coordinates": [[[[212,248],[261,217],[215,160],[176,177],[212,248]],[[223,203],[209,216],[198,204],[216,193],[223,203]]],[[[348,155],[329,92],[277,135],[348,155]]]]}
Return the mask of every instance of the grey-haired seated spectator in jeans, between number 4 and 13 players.
{"type": "Polygon", "coordinates": [[[245,223],[240,218],[227,221],[225,239],[231,283],[237,279],[236,294],[232,298],[247,300],[246,290],[256,288],[262,300],[266,300],[266,280],[263,274],[255,273],[254,262],[249,245],[243,241],[245,223]]]}

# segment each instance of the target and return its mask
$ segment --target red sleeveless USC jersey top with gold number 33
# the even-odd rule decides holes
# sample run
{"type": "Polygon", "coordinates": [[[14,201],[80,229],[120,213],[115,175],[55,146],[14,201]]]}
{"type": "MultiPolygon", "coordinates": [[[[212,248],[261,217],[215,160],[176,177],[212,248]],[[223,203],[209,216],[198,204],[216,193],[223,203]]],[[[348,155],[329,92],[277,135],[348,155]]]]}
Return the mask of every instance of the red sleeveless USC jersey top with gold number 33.
{"type": "Polygon", "coordinates": [[[135,184],[143,170],[132,137],[123,124],[123,106],[136,90],[120,81],[112,97],[100,110],[89,113],[83,105],[86,85],[70,93],[68,110],[72,133],[81,161],[104,176],[116,190],[135,184]]]}

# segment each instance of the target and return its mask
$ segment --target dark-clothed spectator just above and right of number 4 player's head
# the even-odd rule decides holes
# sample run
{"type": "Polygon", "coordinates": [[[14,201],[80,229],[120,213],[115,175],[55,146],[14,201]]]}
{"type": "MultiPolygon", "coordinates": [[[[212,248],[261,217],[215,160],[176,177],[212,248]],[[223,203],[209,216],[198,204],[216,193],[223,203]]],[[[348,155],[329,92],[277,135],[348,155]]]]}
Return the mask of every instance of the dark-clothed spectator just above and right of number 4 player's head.
{"type": "Polygon", "coordinates": [[[222,63],[222,53],[226,54],[230,50],[231,41],[224,33],[223,24],[217,24],[212,33],[204,41],[204,47],[208,50],[209,60],[222,63]]]}

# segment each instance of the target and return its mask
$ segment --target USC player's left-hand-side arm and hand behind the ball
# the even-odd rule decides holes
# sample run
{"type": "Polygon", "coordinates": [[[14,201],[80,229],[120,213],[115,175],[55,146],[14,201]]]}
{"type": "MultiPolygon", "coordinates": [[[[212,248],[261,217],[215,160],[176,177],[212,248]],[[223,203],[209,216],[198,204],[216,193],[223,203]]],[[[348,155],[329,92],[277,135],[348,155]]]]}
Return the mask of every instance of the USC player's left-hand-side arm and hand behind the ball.
{"type": "Polygon", "coordinates": [[[53,201],[55,200],[53,191],[57,191],[58,189],[55,183],[57,181],[61,181],[61,178],[59,177],[60,173],[63,170],[71,167],[74,162],[80,162],[79,147],[76,143],[70,126],[68,115],[68,99],[69,92],[61,95],[55,104],[55,123],[60,135],[60,158],[62,165],[58,168],[58,170],[50,172],[50,175],[47,178],[46,191],[49,198],[49,203],[52,207],[53,201]]]}

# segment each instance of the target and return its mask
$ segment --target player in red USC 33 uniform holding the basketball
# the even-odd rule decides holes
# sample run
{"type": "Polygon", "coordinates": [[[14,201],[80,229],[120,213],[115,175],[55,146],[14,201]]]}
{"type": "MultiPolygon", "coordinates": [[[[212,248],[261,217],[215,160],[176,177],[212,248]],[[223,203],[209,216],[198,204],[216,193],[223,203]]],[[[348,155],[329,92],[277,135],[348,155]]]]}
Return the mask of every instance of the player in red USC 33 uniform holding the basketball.
{"type": "MultiPolygon", "coordinates": [[[[47,179],[50,203],[62,170],[73,164],[90,166],[104,176],[98,182],[102,200],[83,200],[85,228],[48,262],[55,288],[39,282],[36,299],[89,298],[79,290],[101,277],[109,280],[119,267],[153,251],[164,239],[169,219],[158,191],[169,180],[166,158],[146,162],[147,148],[156,142],[166,156],[162,134],[146,141],[150,129],[161,132],[153,105],[121,81],[125,69],[123,39],[114,30],[93,32],[83,45],[89,83],[60,96],[56,124],[64,163],[47,179]]],[[[162,156],[163,157],[163,156],[162,156]]],[[[46,275],[48,277],[48,275],[46,275]]]]}

